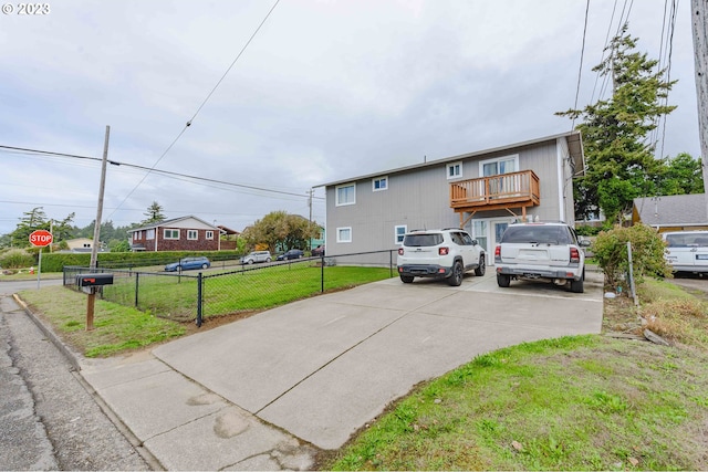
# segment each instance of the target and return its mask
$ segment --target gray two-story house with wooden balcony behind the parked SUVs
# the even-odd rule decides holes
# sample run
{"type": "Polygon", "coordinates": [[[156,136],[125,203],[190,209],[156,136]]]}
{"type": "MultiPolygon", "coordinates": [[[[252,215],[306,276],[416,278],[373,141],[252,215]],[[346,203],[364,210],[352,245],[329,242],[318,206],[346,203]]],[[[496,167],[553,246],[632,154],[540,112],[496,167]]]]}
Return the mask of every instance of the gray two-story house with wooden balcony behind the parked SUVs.
{"type": "MultiPolygon", "coordinates": [[[[325,183],[327,255],[395,249],[406,231],[464,228],[493,253],[514,220],[573,224],[579,132],[325,183]]],[[[493,258],[488,258],[493,262],[493,258]]]]}

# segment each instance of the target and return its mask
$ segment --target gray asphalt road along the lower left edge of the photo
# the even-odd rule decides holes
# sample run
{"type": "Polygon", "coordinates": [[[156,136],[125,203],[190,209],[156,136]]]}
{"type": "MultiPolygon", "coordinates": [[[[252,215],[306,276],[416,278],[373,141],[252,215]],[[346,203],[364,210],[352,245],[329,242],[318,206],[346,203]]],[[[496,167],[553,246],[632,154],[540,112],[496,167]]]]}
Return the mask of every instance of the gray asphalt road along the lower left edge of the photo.
{"type": "Polygon", "coordinates": [[[149,470],[10,295],[35,287],[0,283],[0,470],[149,470]]]}

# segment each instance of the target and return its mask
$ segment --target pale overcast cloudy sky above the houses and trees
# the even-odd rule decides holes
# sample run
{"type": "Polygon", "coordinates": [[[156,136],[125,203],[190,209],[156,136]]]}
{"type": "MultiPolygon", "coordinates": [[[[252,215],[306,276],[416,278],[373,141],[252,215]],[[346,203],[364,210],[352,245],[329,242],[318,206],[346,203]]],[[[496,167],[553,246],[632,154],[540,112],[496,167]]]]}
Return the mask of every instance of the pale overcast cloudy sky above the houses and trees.
{"type": "MultiPolygon", "coordinates": [[[[667,61],[665,3],[590,1],[579,107],[607,90],[591,69],[623,7],[638,49],[667,61]]],[[[680,0],[676,14],[670,75],[679,82],[669,103],[678,109],[657,134],[664,156],[700,155],[689,3],[680,0]]],[[[104,221],[139,222],[157,201],[168,218],[194,214],[239,231],[274,210],[308,217],[309,190],[329,181],[569,130],[553,113],[575,103],[586,8],[585,0],[43,4],[43,14],[30,15],[3,2],[0,146],[101,158],[110,126],[110,160],[158,171],[108,166],[104,221]]],[[[56,220],[75,212],[74,224],[85,227],[100,177],[96,160],[0,148],[0,234],[34,207],[56,220]]],[[[324,222],[322,188],[312,216],[324,222]]]]}

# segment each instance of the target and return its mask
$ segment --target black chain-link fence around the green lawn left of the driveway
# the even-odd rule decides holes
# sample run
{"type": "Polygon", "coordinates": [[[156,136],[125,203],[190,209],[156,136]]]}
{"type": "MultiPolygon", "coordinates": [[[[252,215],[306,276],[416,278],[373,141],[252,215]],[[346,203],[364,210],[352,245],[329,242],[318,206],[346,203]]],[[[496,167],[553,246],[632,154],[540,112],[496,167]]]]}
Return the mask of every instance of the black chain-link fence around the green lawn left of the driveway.
{"type": "Polygon", "coordinates": [[[397,276],[395,250],[306,258],[252,265],[212,264],[200,272],[157,272],[66,265],[63,284],[81,290],[76,276],[112,273],[103,300],[179,322],[249,314],[320,293],[397,276]]]}

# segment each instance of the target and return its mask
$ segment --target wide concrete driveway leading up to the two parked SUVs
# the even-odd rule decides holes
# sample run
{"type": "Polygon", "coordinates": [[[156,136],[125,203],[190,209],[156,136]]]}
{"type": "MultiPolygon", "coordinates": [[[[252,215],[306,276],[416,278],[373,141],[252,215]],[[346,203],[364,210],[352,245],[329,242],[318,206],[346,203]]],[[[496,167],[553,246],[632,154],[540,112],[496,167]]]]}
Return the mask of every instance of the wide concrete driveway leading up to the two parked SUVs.
{"type": "Polygon", "coordinates": [[[337,449],[392,400],[475,356],[600,333],[602,274],[584,294],[540,283],[461,286],[398,279],[317,296],[153,350],[171,369],[263,421],[337,449]]]}

